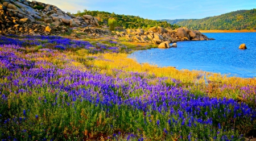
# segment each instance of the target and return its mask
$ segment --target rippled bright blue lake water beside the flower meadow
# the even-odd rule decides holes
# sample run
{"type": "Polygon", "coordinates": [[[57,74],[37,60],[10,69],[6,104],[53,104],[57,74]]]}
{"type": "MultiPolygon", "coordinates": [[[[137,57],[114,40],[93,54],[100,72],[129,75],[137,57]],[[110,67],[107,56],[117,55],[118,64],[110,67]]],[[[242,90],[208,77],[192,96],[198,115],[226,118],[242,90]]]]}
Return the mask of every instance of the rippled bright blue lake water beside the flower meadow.
{"type": "Polygon", "coordinates": [[[177,48],[153,48],[129,55],[139,63],[256,77],[256,32],[208,33],[208,41],[177,42],[177,48]],[[238,49],[245,43],[247,49],[238,49]]]}

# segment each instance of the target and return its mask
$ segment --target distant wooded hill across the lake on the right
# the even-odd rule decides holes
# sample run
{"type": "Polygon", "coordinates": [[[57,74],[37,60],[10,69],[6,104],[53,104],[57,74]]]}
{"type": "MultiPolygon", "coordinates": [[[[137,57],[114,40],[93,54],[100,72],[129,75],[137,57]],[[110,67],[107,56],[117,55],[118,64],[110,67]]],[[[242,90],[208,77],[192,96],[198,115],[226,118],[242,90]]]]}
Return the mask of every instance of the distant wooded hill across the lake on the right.
{"type": "Polygon", "coordinates": [[[193,30],[255,30],[256,9],[238,10],[203,19],[166,20],[193,30]]]}

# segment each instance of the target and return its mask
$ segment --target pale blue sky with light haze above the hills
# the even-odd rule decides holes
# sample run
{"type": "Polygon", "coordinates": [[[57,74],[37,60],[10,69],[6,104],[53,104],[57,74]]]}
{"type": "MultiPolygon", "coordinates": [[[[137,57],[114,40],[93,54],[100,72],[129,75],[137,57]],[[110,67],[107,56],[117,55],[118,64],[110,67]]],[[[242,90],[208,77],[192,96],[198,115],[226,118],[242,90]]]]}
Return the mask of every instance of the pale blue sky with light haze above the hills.
{"type": "Polygon", "coordinates": [[[38,0],[70,13],[86,10],[140,16],[144,19],[201,19],[256,8],[256,0],[38,0]]]}

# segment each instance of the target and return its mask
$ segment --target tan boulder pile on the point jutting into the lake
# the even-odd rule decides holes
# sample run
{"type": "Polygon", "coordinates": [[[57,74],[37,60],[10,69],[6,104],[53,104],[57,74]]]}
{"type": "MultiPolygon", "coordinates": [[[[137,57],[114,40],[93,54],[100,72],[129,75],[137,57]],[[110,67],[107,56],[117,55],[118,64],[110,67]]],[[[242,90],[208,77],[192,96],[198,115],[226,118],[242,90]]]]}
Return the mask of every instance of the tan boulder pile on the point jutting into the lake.
{"type": "Polygon", "coordinates": [[[162,27],[152,27],[148,31],[142,29],[126,30],[125,32],[116,32],[115,37],[126,37],[130,41],[139,43],[161,44],[159,48],[169,47],[167,42],[175,43],[184,40],[214,40],[209,39],[201,32],[188,30],[188,28],[180,27],[177,30],[166,30],[162,27]],[[162,44],[164,43],[164,44],[162,44]]]}

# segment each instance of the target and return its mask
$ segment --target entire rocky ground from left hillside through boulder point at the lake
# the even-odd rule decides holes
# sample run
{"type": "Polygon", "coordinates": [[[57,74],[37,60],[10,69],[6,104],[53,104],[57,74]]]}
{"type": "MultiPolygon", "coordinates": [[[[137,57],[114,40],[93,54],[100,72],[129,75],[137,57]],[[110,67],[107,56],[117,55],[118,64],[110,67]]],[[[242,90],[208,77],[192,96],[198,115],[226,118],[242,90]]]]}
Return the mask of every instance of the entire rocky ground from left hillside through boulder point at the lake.
{"type": "Polygon", "coordinates": [[[166,30],[163,27],[152,27],[148,31],[139,28],[111,33],[109,30],[93,27],[100,25],[97,18],[92,15],[74,16],[65,13],[57,6],[26,0],[2,0],[0,3],[0,22],[2,35],[60,35],[69,32],[73,38],[86,38],[88,36],[97,38],[116,34],[114,37],[117,39],[125,37],[131,42],[151,44],[183,40],[210,40],[199,31],[188,30],[188,28],[166,30]]]}

